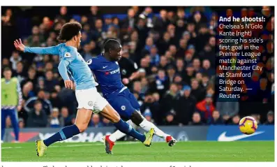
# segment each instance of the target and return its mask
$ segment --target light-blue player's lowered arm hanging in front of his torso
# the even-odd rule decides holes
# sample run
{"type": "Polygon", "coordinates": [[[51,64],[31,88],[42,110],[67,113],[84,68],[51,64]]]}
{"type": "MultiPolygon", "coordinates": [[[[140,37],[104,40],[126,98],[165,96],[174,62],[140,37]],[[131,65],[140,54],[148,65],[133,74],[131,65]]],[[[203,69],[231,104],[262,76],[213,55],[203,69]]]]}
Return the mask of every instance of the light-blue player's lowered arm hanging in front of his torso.
{"type": "Polygon", "coordinates": [[[59,74],[61,75],[61,78],[63,78],[63,80],[64,80],[65,87],[68,89],[73,89],[73,82],[72,82],[72,80],[70,80],[68,73],[67,73],[68,64],[69,64],[68,61],[62,59],[59,62],[58,69],[59,69],[59,74]]]}

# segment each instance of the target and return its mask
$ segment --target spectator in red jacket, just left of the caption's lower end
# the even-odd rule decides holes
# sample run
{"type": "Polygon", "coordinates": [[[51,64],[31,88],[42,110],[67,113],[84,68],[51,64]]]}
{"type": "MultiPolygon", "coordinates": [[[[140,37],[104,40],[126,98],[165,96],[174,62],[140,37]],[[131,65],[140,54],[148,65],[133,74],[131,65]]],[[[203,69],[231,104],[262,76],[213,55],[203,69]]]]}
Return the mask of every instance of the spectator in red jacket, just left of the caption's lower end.
{"type": "Polygon", "coordinates": [[[208,120],[211,118],[213,111],[216,108],[213,105],[213,99],[211,94],[207,94],[206,99],[200,101],[196,104],[196,110],[198,110],[202,115],[204,115],[204,119],[208,120]]]}

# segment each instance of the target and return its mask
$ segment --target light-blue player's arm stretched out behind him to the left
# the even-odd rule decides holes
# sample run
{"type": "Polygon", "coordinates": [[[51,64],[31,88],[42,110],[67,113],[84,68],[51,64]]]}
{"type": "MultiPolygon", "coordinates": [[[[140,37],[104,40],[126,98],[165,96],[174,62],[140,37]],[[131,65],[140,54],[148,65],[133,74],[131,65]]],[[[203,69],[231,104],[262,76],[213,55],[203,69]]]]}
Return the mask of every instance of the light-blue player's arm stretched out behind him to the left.
{"type": "Polygon", "coordinates": [[[14,43],[15,48],[21,52],[31,52],[41,55],[59,55],[59,48],[58,46],[52,46],[47,48],[40,48],[40,47],[26,47],[21,39],[15,40],[14,43]]]}

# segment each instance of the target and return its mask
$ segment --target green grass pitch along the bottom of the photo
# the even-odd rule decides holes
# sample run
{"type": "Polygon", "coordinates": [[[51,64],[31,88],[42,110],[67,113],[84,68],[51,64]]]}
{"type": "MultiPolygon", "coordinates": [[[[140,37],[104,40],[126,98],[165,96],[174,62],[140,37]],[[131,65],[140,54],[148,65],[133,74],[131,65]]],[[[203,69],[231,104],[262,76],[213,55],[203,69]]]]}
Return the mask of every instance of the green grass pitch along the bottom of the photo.
{"type": "Polygon", "coordinates": [[[35,143],[3,143],[2,161],[274,161],[274,141],[117,142],[114,154],[106,154],[103,143],[55,143],[43,157],[36,156],[35,143]]]}

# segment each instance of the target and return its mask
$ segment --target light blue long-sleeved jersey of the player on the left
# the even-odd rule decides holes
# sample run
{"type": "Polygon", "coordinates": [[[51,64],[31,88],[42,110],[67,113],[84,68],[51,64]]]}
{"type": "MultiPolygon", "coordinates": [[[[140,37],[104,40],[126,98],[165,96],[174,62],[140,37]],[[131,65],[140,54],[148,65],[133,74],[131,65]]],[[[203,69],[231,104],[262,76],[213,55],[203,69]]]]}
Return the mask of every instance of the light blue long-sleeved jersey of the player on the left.
{"type": "Polygon", "coordinates": [[[70,73],[75,82],[76,89],[90,89],[97,85],[89,66],[87,66],[87,62],[77,52],[77,48],[61,43],[49,48],[26,47],[24,52],[41,55],[59,55],[59,73],[63,80],[69,80],[68,73],[70,73]]]}

